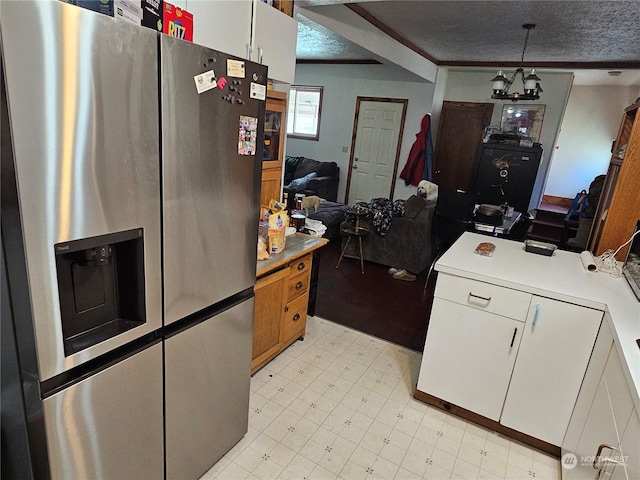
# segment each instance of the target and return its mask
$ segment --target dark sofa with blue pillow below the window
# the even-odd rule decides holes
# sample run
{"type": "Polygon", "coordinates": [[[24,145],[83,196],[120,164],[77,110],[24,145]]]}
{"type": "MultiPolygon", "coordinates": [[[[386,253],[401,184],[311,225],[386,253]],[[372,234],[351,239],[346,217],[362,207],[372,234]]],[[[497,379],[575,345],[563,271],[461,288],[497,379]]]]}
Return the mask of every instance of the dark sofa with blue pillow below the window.
{"type": "Polygon", "coordinates": [[[283,192],[289,196],[289,209],[295,207],[295,194],[317,195],[330,202],[337,201],[340,167],[336,162],[320,162],[306,157],[285,156],[283,192]],[[304,188],[289,187],[293,180],[299,180],[315,172],[304,188]]]}

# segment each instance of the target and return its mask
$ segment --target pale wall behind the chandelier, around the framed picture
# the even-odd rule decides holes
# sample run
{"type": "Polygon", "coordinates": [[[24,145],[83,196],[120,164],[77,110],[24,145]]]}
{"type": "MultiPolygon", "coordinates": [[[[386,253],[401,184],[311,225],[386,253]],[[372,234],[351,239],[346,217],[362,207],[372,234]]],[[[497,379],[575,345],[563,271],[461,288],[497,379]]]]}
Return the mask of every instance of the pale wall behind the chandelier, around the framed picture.
{"type": "MultiPolygon", "coordinates": [[[[564,114],[565,106],[571,89],[572,73],[553,73],[538,70],[538,76],[542,79],[544,92],[540,100],[533,102],[521,102],[523,104],[545,105],[544,121],[542,123],[542,162],[538,169],[531,196],[529,208],[537,208],[545,189],[547,173],[549,171],[551,152],[556,143],[557,132],[564,114]]],[[[481,70],[450,70],[444,100],[457,102],[492,102],[495,103],[492,125],[500,125],[502,108],[511,102],[491,99],[491,78],[495,71],[481,70]]]]}

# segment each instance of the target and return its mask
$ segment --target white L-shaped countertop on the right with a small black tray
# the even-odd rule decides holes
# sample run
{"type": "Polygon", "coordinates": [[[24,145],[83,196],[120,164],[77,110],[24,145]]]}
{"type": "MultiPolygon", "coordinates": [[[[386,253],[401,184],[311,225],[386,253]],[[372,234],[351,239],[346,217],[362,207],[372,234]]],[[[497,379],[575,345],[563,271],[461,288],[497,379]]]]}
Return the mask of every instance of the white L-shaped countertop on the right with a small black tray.
{"type": "Polygon", "coordinates": [[[623,277],[588,272],[580,255],[556,250],[551,257],[524,251],[524,244],[465,232],[436,262],[435,269],[461,277],[523,290],[608,312],[605,321],[614,334],[625,378],[640,411],[640,302],[623,277]],[[491,257],[474,253],[480,242],[496,246],[491,257]]]}

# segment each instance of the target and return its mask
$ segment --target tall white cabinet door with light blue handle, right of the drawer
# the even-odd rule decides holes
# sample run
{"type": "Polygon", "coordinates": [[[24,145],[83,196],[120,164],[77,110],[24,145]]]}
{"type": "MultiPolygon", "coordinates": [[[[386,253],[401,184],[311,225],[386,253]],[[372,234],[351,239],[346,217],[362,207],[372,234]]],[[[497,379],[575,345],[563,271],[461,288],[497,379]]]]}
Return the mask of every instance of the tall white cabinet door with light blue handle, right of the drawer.
{"type": "Polygon", "coordinates": [[[500,423],[562,444],[602,315],[533,297],[500,423]]]}

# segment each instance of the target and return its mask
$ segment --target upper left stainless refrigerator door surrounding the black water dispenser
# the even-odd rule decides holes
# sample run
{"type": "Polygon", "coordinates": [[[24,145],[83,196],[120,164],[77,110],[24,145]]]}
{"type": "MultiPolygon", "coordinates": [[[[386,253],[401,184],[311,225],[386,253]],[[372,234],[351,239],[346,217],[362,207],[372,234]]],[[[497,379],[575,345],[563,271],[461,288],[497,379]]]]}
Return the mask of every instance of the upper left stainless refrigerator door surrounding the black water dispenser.
{"type": "Polygon", "coordinates": [[[162,326],[157,34],[24,0],[2,2],[2,48],[43,381],[162,326]],[[132,229],[144,232],[146,323],[65,357],[54,245],[132,229]]]}

